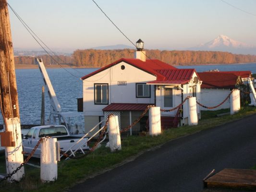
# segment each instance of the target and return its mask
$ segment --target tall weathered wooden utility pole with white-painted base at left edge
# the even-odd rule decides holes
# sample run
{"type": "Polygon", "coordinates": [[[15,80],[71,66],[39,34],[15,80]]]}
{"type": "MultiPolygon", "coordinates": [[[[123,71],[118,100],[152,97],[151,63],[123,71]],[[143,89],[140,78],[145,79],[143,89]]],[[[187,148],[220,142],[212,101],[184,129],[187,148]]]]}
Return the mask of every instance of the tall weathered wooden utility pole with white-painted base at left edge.
{"type": "MultiPolygon", "coordinates": [[[[5,144],[6,170],[9,174],[23,163],[23,154],[12,35],[6,0],[0,0],[0,93],[5,133],[9,133],[5,134],[4,138],[5,143],[9,143],[5,144]]],[[[19,181],[23,176],[22,167],[12,175],[9,182],[19,181]]]]}

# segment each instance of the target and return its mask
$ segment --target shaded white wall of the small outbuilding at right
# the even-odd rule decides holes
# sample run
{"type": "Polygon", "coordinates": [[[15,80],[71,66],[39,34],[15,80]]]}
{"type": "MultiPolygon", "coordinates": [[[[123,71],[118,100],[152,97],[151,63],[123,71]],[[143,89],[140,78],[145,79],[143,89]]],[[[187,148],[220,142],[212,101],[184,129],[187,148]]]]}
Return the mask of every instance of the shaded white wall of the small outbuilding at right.
{"type": "MultiPolygon", "coordinates": [[[[214,107],[219,105],[230,93],[229,89],[201,89],[201,104],[207,107],[214,107]]],[[[222,108],[230,108],[230,99],[224,104],[214,109],[202,108],[201,110],[219,110],[222,108]]]]}

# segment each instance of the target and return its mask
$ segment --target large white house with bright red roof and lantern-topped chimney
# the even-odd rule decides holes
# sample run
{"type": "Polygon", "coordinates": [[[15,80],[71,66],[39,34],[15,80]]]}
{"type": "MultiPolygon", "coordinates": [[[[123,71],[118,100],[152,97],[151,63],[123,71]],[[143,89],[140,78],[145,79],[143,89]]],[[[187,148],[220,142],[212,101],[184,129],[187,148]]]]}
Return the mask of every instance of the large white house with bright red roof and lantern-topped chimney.
{"type": "MultiPolygon", "coordinates": [[[[119,117],[120,127],[124,128],[148,105],[170,109],[186,96],[196,96],[200,100],[201,82],[194,69],[177,69],[160,60],[146,60],[145,51],[141,50],[136,51],[135,59],[122,58],[81,79],[85,132],[110,113],[119,117]]],[[[187,102],[182,108],[181,121],[178,121],[181,125],[188,123],[187,102]]],[[[199,117],[199,108],[197,112],[199,117]]],[[[168,118],[172,123],[176,114],[177,110],[161,112],[162,125],[168,123],[168,118]]],[[[144,117],[133,131],[143,131],[146,120],[144,117]]]]}

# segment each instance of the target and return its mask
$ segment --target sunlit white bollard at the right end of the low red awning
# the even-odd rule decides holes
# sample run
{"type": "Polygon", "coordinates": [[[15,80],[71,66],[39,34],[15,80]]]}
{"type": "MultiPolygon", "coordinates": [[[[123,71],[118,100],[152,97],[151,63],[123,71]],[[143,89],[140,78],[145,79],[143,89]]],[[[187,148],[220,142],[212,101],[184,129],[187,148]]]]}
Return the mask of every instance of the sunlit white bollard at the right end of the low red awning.
{"type": "Polygon", "coordinates": [[[161,112],[160,107],[149,108],[149,134],[161,134],[161,112]]]}

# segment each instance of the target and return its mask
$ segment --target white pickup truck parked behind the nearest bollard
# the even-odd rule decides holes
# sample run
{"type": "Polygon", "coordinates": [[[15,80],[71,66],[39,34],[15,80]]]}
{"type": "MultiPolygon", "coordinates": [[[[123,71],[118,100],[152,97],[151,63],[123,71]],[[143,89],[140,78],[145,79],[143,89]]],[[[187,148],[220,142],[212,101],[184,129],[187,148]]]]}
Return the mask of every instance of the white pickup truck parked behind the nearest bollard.
{"type": "MultiPolygon", "coordinates": [[[[61,146],[61,151],[65,152],[84,135],[70,135],[66,127],[63,125],[44,125],[32,127],[22,139],[23,151],[26,152],[25,155],[29,155],[38,143],[39,139],[44,136],[57,138],[57,141],[61,146]]],[[[83,143],[85,144],[83,144],[81,148],[83,150],[89,149],[86,142],[87,140],[87,138],[84,138],[78,145],[75,145],[72,150],[76,150],[83,143]]],[[[40,158],[40,153],[41,145],[38,146],[33,156],[40,158]]]]}

